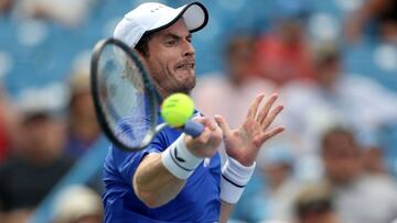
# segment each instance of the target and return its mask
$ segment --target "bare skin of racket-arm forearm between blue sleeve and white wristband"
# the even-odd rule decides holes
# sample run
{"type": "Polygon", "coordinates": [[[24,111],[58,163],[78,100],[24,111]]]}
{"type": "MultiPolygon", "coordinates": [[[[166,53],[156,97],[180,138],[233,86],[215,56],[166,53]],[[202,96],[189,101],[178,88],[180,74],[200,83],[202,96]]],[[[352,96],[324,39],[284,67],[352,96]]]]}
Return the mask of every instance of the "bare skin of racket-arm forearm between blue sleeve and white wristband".
{"type": "Polygon", "coordinates": [[[184,182],[164,167],[161,154],[149,154],[144,157],[132,179],[136,194],[151,208],[160,207],[175,198],[184,182]]]}

